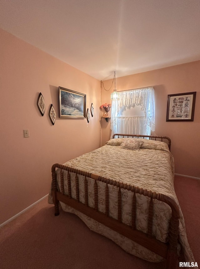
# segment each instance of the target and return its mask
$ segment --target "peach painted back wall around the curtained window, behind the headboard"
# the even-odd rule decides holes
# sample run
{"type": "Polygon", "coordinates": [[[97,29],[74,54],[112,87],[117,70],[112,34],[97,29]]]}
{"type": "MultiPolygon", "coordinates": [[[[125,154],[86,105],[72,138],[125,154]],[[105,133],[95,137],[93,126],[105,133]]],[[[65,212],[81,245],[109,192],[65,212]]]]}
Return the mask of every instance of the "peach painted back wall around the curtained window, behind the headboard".
{"type": "MultiPolygon", "coordinates": [[[[118,91],[153,86],[155,90],[155,135],[172,139],[171,152],[175,160],[175,173],[200,178],[200,61],[176,65],[140,74],[117,78],[118,91]],[[168,94],[197,92],[193,122],[166,122],[168,94]]],[[[103,81],[109,89],[111,80],[103,81]]],[[[102,103],[110,102],[113,89],[102,89],[102,103]]],[[[110,112],[109,112],[110,113],[110,112]]],[[[102,145],[111,135],[110,120],[102,122],[102,145]]]]}

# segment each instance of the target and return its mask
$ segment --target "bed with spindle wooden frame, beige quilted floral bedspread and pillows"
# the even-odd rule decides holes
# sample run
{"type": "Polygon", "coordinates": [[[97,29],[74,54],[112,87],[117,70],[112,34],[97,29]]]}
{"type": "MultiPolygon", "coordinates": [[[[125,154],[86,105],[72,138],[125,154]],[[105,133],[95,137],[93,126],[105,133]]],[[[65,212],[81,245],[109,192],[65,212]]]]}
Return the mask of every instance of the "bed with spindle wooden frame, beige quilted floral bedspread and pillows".
{"type": "Polygon", "coordinates": [[[106,145],[52,166],[48,202],[79,216],[90,230],[151,262],[194,261],[174,191],[166,136],[114,134],[106,145]]]}

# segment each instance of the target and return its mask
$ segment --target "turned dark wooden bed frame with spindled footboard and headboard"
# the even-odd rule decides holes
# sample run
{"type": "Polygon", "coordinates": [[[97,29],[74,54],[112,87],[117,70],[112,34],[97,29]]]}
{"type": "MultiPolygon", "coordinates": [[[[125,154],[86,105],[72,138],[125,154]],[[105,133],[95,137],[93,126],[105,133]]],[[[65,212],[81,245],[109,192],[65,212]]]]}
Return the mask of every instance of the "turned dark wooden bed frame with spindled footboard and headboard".
{"type": "MultiPolygon", "coordinates": [[[[137,134],[114,134],[115,136],[123,137],[136,137],[136,138],[148,138],[154,140],[167,139],[169,150],[171,148],[171,140],[166,136],[154,136],[154,135],[137,135],[137,134]]],[[[62,171],[62,170],[61,170],[62,171]]],[[[99,176],[93,173],[88,173],[86,171],[78,170],[66,165],[54,164],[52,166],[52,196],[53,203],[55,205],[55,216],[59,215],[59,201],[67,204],[68,206],[73,207],[74,209],[82,212],[83,214],[91,217],[92,219],[102,223],[103,225],[111,228],[112,230],[118,232],[119,234],[133,240],[134,242],[140,244],[141,246],[146,247],[150,251],[162,256],[167,260],[167,268],[173,269],[176,268],[178,255],[177,255],[177,243],[178,243],[178,226],[179,226],[179,208],[177,204],[168,196],[155,191],[139,188],[138,186],[130,185],[123,183],[117,180],[112,180],[103,176],[99,176]],[[56,180],[56,168],[60,168],[68,171],[68,195],[64,195],[64,184],[63,184],[63,174],[61,172],[61,192],[57,189],[57,180],[56,180]],[[71,195],[71,181],[70,173],[73,172],[76,174],[76,199],[72,198],[71,195]],[[78,186],[78,175],[85,176],[84,186],[85,186],[85,204],[79,201],[79,186],[78,186]],[[95,197],[95,208],[88,206],[88,185],[87,179],[91,178],[95,180],[94,182],[94,197],[95,197]],[[98,211],[98,188],[97,181],[101,181],[105,184],[105,214],[98,211]],[[109,216],[109,193],[108,185],[113,185],[119,187],[118,191],[118,220],[109,216]],[[122,199],[121,199],[121,190],[130,190],[133,192],[133,203],[132,203],[132,225],[126,225],[122,223],[122,199]],[[139,193],[150,198],[149,203],[149,213],[148,213],[148,233],[143,233],[136,229],[136,194],[139,193]],[[153,199],[163,201],[168,204],[172,210],[172,216],[169,222],[169,233],[168,243],[163,243],[158,241],[152,235],[152,226],[153,226],[153,199]]]]}

